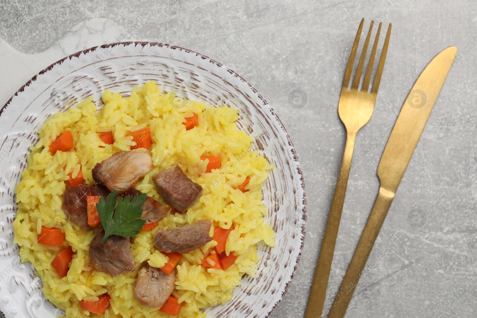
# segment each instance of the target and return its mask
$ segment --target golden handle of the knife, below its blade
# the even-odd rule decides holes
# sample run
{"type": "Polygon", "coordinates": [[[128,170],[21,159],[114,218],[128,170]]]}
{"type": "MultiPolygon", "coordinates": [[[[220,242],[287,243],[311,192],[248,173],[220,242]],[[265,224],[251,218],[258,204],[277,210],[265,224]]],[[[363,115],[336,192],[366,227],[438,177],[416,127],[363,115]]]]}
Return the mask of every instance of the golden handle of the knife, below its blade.
{"type": "Polygon", "coordinates": [[[363,234],[359,240],[358,246],[354,251],[350,266],[344,275],[343,282],[338,294],[334,299],[333,306],[328,314],[328,318],[343,318],[346,309],[353,297],[354,289],[358,284],[361,273],[363,272],[369,254],[373,249],[374,241],[381,230],[384,218],[387,215],[389,207],[394,199],[394,193],[387,190],[383,184],[379,188],[379,194],[374,202],[373,210],[369,215],[363,234]]]}

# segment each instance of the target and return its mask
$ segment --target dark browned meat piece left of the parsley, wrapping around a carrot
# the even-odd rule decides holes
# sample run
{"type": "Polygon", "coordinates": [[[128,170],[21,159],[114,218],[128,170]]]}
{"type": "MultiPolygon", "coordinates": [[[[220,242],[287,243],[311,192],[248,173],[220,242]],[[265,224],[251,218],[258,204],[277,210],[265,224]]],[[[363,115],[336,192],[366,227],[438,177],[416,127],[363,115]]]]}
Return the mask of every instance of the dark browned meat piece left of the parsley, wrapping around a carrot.
{"type": "Polygon", "coordinates": [[[75,185],[63,192],[62,209],[66,217],[84,231],[91,231],[93,227],[88,225],[86,197],[89,195],[109,195],[108,189],[96,185],[75,185]]]}

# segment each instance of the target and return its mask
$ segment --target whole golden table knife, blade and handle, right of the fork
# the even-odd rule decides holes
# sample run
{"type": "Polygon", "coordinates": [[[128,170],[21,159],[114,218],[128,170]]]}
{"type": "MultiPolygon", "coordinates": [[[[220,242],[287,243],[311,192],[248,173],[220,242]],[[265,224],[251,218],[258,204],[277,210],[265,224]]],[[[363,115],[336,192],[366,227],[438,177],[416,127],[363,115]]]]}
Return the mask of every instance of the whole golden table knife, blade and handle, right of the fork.
{"type": "Polygon", "coordinates": [[[436,103],[452,62],[454,62],[456,53],[457,48],[450,46],[437,54],[419,76],[401,108],[379,162],[378,196],[328,318],[343,318],[346,313],[384,218],[393,202],[396,190],[436,103]]]}

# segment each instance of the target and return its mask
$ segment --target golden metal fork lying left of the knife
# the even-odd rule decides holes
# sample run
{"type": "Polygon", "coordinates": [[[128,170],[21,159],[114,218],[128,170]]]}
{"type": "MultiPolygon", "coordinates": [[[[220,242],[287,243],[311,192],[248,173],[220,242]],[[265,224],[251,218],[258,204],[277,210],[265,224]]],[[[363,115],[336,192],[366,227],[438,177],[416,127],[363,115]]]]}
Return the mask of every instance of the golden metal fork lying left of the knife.
{"type": "Polygon", "coordinates": [[[369,38],[371,36],[371,31],[373,30],[374,21],[371,21],[371,26],[369,27],[368,35],[366,36],[363,51],[356,69],[356,75],[354,76],[351,89],[349,89],[348,87],[351,79],[351,73],[353,72],[354,58],[356,56],[356,51],[358,50],[359,38],[361,31],[363,30],[363,23],[364,19],[361,20],[358,32],[354,38],[350,59],[344,74],[340,102],[338,103],[338,113],[340,115],[341,121],[346,127],[346,145],[344,146],[340,174],[338,176],[338,181],[334,190],[333,201],[330,208],[330,214],[328,216],[328,222],[326,224],[325,234],[321,242],[320,256],[318,257],[315,276],[313,278],[313,284],[311,285],[305,318],[320,318],[322,316],[323,305],[326,296],[326,287],[328,286],[328,278],[330,276],[330,269],[333,260],[333,251],[336,244],[336,236],[338,235],[338,228],[340,226],[344,196],[346,193],[346,186],[348,185],[348,176],[351,170],[354,141],[356,139],[356,133],[358,133],[361,127],[369,122],[371,115],[373,114],[379,82],[381,81],[381,75],[384,69],[384,61],[386,60],[389,37],[391,35],[391,23],[389,23],[383,51],[381,51],[381,58],[379,60],[379,65],[374,77],[373,87],[371,92],[368,92],[371,73],[373,72],[376,47],[379,40],[379,33],[381,31],[381,25],[383,24],[383,22],[380,22],[366,73],[364,75],[363,88],[361,91],[358,91],[361,81],[361,73],[363,71],[364,59],[366,58],[366,51],[368,49],[369,38]]]}

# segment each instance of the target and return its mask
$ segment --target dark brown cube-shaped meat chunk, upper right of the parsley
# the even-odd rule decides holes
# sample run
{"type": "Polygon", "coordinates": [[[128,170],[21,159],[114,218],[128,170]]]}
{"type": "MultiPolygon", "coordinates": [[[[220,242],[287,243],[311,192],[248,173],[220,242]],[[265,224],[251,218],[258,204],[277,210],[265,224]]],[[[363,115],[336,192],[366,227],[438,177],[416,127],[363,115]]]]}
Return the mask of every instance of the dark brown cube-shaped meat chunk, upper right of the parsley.
{"type": "Polygon", "coordinates": [[[164,200],[181,212],[194,205],[202,195],[202,187],[192,181],[178,164],[154,175],[152,179],[164,200]]]}

